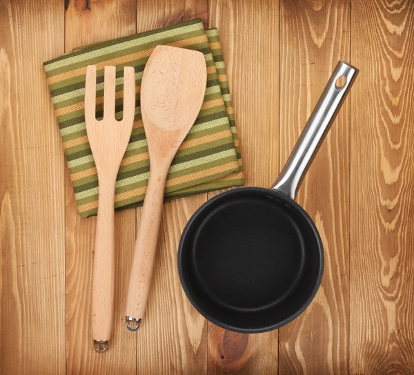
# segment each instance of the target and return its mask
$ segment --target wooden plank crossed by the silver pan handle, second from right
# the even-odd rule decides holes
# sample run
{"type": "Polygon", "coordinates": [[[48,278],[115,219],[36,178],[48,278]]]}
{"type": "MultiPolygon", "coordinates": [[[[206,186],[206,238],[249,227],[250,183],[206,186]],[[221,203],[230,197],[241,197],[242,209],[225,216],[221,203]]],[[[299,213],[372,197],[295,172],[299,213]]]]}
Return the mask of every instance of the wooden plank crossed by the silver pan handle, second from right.
{"type": "MultiPolygon", "coordinates": [[[[337,61],[350,59],[348,0],[282,1],[280,167],[337,61]]],[[[279,374],[348,372],[349,99],[297,195],[322,238],[325,269],[315,300],[279,329],[279,374]]]]}

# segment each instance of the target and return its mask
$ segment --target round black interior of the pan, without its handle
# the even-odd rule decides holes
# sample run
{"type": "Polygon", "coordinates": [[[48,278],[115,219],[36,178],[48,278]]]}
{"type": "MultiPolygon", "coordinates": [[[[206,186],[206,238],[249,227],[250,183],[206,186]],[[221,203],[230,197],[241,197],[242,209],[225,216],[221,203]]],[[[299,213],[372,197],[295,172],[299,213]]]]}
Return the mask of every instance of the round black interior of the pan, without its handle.
{"type": "Polygon", "coordinates": [[[307,305],[319,286],[322,247],[297,205],[279,195],[239,189],[190,222],[181,281],[193,305],[216,324],[274,325],[307,305]]]}

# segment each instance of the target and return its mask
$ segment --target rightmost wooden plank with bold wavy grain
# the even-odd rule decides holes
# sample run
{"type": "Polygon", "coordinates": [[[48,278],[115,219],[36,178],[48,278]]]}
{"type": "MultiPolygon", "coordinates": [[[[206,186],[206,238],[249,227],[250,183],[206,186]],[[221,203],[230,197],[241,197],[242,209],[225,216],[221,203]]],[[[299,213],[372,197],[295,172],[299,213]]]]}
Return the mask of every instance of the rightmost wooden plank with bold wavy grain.
{"type": "Polygon", "coordinates": [[[353,0],[351,374],[414,374],[414,2],[353,0]]]}

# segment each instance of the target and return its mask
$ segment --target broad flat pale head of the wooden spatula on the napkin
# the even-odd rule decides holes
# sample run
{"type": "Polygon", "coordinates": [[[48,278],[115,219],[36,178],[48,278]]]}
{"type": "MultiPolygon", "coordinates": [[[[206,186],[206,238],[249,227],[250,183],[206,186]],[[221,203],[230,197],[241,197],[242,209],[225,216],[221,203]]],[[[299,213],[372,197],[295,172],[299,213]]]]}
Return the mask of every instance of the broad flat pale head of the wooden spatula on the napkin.
{"type": "Polygon", "coordinates": [[[182,142],[203,104],[206,81],[206,61],[201,52],[157,46],[141,82],[141,113],[147,139],[156,128],[177,133],[182,142]]]}

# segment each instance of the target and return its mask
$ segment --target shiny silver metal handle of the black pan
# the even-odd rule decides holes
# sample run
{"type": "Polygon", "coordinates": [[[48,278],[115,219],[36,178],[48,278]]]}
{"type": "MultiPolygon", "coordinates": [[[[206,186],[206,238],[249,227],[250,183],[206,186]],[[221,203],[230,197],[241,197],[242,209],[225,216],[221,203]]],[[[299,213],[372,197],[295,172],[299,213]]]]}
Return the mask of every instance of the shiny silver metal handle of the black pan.
{"type": "Polygon", "coordinates": [[[290,153],[284,169],[270,189],[295,199],[299,184],[344,103],[358,73],[359,70],[354,66],[339,61],[324,93],[309,117],[304,131],[297,140],[295,148],[290,153]],[[345,82],[341,82],[340,86],[338,86],[339,80],[337,81],[339,77],[345,79],[345,82]]]}

